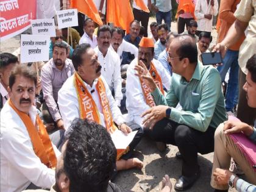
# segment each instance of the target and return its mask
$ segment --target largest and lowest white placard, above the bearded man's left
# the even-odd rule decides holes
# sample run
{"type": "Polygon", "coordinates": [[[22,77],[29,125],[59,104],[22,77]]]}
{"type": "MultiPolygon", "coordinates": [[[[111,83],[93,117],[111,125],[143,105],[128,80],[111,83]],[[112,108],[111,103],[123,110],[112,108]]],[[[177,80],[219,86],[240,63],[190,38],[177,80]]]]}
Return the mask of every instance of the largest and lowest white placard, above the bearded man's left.
{"type": "Polygon", "coordinates": [[[21,63],[48,61],[49,43],[46,35],[21,35],[21,63]]]}

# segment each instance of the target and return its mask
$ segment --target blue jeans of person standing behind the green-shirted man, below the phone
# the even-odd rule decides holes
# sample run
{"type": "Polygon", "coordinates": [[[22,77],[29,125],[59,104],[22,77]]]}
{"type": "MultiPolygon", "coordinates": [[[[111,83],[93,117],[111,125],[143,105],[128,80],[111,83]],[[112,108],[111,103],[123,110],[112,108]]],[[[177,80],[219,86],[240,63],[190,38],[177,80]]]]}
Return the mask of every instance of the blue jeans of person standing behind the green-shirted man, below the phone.
{"type": "Polygon", "coordinates": [[[226,91],[226,110],[229,112],[238,103],[238,54],[239,51],[227,50],[226,55],[222,61],[223,65],[218,66],[221,81],[224,82],[227,71],[230,68],[229,82],[227,82],[226,91]]]}

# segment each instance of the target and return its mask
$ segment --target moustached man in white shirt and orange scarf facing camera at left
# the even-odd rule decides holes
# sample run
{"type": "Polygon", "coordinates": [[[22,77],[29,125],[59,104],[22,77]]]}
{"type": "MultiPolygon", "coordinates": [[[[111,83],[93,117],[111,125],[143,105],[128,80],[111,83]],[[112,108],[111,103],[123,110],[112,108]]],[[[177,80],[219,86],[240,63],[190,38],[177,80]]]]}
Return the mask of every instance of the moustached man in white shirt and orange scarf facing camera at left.
{"type": "Polygon", "coordinates": [[[1,191],[50,188],[60,152],[51,143],[32,105],[37,74],[16,65],[10,74],[10,99],[1,111],[1,191]]]}

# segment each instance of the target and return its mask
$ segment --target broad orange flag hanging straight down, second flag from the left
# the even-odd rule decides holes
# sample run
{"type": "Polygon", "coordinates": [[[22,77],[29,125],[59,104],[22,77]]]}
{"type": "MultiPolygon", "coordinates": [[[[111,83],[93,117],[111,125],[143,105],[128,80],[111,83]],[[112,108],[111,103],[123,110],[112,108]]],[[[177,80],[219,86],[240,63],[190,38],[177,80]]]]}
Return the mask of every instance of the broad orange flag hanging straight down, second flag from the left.
{"type": "Polygon", "coordinates": [[[113,23],[129,33],[130,23],[134,20],[129,0],[107,0],[107,23],[113,23]]]}

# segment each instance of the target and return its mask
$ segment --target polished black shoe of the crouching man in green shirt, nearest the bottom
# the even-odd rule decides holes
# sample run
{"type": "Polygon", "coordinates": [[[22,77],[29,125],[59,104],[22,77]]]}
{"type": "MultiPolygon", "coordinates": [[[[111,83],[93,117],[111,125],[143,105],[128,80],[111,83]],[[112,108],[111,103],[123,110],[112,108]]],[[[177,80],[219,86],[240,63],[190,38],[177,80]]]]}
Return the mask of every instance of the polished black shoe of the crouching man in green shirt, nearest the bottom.
{"type": "Polygon", "coordinates": [[[199,176],[200,176],[200,171],[197,171],[196,174],[194,174],[194,176],[191,176],[191,177],[180,176],[180,178],[175,183],[174,188],[177,191],[187,190],[194,184],[194,182],[196,182],[199,176]]]}

